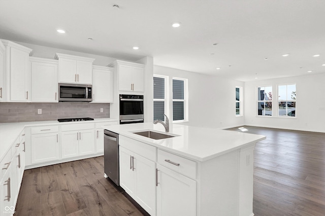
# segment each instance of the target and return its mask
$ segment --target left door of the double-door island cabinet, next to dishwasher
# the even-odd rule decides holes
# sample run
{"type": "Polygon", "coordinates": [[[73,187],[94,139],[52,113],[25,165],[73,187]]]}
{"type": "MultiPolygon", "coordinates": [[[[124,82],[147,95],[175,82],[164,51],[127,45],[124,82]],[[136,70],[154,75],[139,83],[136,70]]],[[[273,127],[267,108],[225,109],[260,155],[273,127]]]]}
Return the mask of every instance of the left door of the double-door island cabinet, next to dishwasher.
{"type": "Polygon", "coordinates": [[[135,178],[133,170],[133,152],[119,148],[120,156],[120,186],[135,199],[135,178]]]}

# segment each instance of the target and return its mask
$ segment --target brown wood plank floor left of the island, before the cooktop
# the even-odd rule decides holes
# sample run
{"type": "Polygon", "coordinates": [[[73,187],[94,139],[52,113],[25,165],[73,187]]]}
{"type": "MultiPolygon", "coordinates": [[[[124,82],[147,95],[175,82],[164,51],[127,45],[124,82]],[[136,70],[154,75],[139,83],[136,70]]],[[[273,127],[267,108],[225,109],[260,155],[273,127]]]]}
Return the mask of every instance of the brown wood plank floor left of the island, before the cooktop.
{"type": "Polygon", "coordinates": [[[25,170],[16,215],[143,214],[104,177],[104,157],[25,170]]]}

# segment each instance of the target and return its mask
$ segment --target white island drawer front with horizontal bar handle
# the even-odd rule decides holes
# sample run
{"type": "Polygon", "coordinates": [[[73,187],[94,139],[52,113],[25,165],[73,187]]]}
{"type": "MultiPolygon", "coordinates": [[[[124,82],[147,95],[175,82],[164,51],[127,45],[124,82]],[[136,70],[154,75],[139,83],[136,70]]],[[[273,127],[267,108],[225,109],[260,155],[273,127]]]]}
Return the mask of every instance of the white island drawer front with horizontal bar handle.
{"type": "Polygon", "coordinates": [[[197,162],[158,149],[157,162],[192,179],[197,178],[197,162]]]}

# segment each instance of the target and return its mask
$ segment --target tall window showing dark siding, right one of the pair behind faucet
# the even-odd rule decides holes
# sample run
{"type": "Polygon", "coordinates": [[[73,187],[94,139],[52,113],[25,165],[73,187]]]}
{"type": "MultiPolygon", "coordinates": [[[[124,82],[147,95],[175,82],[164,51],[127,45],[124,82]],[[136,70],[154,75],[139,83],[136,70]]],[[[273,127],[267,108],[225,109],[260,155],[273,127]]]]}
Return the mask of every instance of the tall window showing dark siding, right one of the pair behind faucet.
{"type": "Polygon", "coordinates": [[[186,79],[173,78],[173,121],[186,120],[186,79]]]}

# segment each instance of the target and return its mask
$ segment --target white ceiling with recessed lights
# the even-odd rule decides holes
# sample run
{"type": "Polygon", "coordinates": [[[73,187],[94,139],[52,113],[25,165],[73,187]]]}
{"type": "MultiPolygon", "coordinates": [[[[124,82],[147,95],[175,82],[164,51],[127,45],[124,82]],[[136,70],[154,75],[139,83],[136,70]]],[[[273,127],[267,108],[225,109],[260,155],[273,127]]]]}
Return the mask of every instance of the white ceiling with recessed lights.
{"type": "Polygon", "coordinates": [[[299,76],[325,73],[325,1],[0,0],[0,38],[240,81],[299,76]]]}

